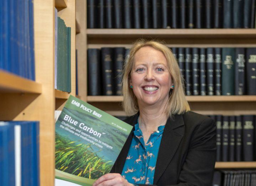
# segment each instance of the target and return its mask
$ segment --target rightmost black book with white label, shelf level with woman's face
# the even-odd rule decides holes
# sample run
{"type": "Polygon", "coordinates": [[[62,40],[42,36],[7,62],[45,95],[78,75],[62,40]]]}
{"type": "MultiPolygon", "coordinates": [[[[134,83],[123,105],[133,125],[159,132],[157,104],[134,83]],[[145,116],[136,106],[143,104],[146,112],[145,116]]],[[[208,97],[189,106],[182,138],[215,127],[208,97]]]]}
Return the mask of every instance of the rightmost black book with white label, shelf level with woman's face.
{"type": "Polygon", "coordinates": [[[256,95],[256,48],[246,49],[247,94],[256,95]]]}

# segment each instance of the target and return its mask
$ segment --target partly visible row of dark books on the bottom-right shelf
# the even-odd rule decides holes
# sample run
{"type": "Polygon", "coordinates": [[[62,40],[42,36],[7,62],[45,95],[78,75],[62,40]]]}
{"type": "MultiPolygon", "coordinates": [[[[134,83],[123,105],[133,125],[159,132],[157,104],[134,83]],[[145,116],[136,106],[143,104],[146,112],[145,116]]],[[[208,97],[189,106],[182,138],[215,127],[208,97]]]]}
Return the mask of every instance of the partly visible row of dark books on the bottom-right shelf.
{"type": "Polygon", "coordinates": [[[216,170],[213,186],[255,186],[256,170],[216,170]]]}

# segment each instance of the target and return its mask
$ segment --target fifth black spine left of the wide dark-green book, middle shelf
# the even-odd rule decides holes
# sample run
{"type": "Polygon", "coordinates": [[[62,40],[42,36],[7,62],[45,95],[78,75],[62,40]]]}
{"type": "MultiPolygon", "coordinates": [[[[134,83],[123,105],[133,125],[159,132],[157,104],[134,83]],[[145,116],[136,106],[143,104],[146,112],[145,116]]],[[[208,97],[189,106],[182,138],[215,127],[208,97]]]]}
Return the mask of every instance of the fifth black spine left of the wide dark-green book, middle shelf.
{"type": "Polygon", "coordinates": [[[192,84],[191,84],[191,63],[192,63],[192,55],[191,48],[186,48],[185,50],[185,80],[186,80],[186,95],[192,95],[192,84]]]}

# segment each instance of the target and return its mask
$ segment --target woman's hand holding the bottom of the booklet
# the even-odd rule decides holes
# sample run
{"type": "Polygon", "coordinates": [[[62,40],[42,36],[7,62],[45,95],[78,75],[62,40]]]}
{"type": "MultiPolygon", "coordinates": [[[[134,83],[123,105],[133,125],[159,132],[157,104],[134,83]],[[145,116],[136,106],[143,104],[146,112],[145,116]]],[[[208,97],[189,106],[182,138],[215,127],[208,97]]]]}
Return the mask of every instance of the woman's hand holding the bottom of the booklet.
{"type": "Polygon", "coordinates": [[[121,174],[109,173],[101,176],[92,186],[134,186],[124,179],[121,174]]]}

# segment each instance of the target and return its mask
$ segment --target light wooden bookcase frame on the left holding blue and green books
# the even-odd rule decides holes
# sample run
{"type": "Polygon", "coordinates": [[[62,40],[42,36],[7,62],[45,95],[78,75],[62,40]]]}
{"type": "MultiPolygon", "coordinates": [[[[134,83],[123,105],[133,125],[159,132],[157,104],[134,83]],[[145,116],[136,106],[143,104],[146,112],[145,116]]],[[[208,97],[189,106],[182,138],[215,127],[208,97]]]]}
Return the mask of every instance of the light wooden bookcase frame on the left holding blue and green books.
{"type": "Polygon", "coordinates": [[[0,70],[0,120],[40,121],[40,185],[54,186],[54,112],[75,95],[75,1],[34,1],[35,81],[0,70]],[[71,27],[71,93],[54,89],[54,7],[71,27]]]}

